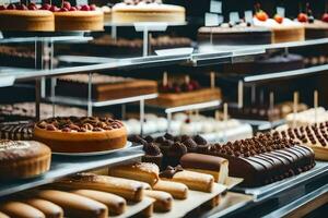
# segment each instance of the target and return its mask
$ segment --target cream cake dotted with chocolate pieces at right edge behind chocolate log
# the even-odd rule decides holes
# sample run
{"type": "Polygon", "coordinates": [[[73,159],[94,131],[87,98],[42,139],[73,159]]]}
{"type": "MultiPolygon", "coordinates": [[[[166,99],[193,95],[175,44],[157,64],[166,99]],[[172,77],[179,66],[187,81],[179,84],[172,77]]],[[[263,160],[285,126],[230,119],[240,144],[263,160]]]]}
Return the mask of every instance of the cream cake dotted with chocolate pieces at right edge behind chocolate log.
{"type": "Polygon", "coordinates": [[[313,125],[276,131],[273,135],[281,135],[294,142],[311,147],[318,160],[328,160],[328,122],[313,125]]]}

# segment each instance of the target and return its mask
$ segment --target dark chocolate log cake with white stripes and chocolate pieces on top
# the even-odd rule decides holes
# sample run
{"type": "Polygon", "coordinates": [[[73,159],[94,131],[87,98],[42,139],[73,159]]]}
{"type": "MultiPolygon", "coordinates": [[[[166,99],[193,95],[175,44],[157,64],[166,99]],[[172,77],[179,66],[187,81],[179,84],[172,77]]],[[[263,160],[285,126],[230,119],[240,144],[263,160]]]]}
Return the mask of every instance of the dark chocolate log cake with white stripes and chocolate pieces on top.
{"type": "Polygon", "coordinates": [[[311,148],[276,134],[211,145],[207,154],[227,159],[230,175],[244,178],[243,186],[266,185],[315,166],[311,148]]]}

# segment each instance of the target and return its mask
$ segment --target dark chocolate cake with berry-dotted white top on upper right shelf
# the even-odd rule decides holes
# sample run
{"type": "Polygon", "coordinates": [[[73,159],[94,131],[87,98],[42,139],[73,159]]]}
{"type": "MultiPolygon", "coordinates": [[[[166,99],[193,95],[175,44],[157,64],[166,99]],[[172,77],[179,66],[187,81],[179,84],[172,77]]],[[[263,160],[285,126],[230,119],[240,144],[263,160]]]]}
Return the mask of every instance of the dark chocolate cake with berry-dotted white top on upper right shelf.
{"type": "Polygon", "coordinates": [[[220,24],[220,26],[203,26],[198,29],[200,44],[213,45],[266,45],[271,44],[272,33],[269,28],[253,26],[250,23],[237,25],[220,24]]]}

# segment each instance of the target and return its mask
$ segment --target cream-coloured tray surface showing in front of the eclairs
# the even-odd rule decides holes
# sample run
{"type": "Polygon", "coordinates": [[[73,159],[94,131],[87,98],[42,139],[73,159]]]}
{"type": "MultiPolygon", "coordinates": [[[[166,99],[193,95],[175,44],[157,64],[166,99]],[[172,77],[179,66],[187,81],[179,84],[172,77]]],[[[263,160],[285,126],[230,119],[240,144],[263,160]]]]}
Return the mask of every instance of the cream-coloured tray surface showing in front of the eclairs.
{"type": "Polygon", "coordinates": [[[226,186],[222,184],[214,184],[214,189],[212,193],[198,192],[189,190],[187,199],[174,199],[172,204],[172,210],[168,213],[154,213],[153,217],[157,218],[175,218],[175,217],[184,217],[191,210],[198,208],[202,204],[213,199],[214,197],[221,195],[224,191],[226,191],[226,186]],[[197,201],[196,201],[197,199],[197,201]]]}

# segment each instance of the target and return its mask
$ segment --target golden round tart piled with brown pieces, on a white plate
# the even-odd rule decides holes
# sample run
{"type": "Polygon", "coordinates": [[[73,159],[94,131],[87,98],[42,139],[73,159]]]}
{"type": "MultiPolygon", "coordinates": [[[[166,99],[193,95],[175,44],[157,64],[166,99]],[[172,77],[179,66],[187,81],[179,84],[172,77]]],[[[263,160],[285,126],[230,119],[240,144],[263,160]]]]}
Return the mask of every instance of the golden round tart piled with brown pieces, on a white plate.
{"type": "Polygon", "coordinates": [[[34,138],[56,153],[93,153],[125,147],[127,130],[110,118],[61,117],[36,123],[34,138]]]}

